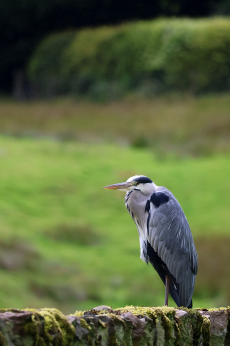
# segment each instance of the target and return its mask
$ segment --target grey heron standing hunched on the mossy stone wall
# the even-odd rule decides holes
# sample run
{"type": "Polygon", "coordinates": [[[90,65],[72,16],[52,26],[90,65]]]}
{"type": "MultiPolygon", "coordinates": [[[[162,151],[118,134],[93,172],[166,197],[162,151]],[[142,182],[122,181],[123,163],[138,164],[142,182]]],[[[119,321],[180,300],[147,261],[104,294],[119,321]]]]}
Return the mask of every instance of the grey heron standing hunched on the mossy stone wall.
{"type": "Polygon", "coordinates": [[[145,176],[103,189],[125,191],[125,206],[134,221],[140,243],[140,258],[159,274],[177,306],[192,307],[197,274],[197,253],[187,219],[172,193],[145,176]]]}

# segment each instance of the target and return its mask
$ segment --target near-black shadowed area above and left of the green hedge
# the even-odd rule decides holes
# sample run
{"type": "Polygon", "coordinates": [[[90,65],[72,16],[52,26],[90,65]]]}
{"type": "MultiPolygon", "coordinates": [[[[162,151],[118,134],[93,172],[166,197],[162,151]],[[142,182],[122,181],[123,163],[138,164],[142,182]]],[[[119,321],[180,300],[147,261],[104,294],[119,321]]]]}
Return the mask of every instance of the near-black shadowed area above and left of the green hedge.
{"type": "Polygon", "coordinates": [[[8,0],[0,2],[0,92],[11,92],[34,48],[47,34],[66,29],[158,17],[230,14],[227,0],[8,0]]]}

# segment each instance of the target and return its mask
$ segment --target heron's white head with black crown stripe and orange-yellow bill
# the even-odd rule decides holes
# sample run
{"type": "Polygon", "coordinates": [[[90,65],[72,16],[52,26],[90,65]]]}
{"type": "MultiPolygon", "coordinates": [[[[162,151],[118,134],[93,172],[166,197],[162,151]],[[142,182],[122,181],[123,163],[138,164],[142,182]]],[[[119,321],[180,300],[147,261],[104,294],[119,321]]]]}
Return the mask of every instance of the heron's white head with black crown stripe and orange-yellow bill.
{"type": "Polygon", "coordinates": [[[143,195],[151,194],[154,190],[155,184],[151,179],[145,176],[134,176],[128,178],[125,183],[118,183],[105,186],[103,189],[120,190],[120,191],[132,191],[139,190],[143,195]]]}

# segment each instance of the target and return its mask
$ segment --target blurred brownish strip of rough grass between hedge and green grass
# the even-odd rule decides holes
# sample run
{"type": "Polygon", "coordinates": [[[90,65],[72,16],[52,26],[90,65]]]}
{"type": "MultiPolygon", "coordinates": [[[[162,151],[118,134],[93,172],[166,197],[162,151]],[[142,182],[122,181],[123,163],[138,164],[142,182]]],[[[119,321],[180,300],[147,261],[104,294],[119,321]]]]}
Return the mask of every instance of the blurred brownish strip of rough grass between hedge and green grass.
{"type": "Polygon", "coordinates": [[[0,102],[0,132],[151,147],[159,158],[230,151],[230,94],[120,102],[0,102]]]}

